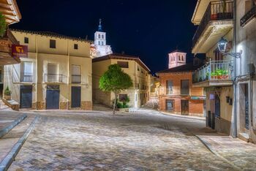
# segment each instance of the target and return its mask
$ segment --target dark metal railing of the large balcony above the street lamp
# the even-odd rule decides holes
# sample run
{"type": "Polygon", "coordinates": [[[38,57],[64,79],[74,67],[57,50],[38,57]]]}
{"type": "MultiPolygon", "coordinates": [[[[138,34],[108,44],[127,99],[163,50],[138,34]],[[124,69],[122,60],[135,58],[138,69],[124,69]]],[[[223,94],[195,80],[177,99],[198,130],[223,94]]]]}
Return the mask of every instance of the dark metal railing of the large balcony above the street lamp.
{"type": "Polygon", "coordinates": [[[230,19],[233,19],[233,1],[227,1],[225,3],[221,1],[210,2],[200,25],[197,27],[197,31],[195,31],[195,35],[192,40],[192,47],[195,46],[210,21],[230,19]]]}

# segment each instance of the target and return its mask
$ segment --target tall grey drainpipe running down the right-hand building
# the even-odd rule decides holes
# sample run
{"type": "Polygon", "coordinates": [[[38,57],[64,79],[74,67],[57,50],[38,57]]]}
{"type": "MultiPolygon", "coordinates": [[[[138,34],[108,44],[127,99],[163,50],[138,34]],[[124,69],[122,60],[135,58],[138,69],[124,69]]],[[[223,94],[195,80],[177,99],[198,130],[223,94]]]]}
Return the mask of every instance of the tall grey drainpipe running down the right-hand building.
{"type": "MultiPolygon", "coordinates": [[[[234,7],[233,7],[233,42],[234,42],[234,45],[233,45],[233,50],[236,52],[236,0],[234,0],[234,7]]],[[[238,135],[238,131],[237,131],[237,82],[236,82],[236,58],[234,60],[234,78],[235,78],[235,81],[234,81],[234,85],[233,85],[233,88],[234,88],[234,123],[233,123],[233,137],[236,138],[237,135],[238,135]]]]}

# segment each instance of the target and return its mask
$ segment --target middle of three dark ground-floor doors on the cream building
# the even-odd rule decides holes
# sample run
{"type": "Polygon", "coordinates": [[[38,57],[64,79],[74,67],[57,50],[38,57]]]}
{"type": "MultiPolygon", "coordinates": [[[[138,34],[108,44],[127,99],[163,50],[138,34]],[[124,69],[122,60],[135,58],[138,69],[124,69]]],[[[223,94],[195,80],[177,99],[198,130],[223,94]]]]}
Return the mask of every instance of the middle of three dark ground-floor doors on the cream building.
{"type": "Polygon", "coordinates": [[[46,91],[46,109],[59,109],[59,86],[48,86],[46,91]]]}

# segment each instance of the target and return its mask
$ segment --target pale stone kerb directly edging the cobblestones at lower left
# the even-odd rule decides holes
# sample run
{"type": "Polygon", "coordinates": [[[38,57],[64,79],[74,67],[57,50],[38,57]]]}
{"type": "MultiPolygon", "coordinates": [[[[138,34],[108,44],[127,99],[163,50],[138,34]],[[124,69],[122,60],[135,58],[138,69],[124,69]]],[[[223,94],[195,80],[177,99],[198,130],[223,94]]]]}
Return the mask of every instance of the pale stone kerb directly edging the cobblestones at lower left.
{"type": "Polygon", "coordinates": [[[20,137],[20,140],[12,147],[12,150],[7,154],[7,156],[4,158],[3,161],[0,163],[0,171],[6,171],[9,169],[10,165],[12,164],[12,161],[15,160],[15,157],[18,155],[18,152],[22,148],[23,144],[26,142],[27,138],[29,137],[29,134],[34,129],[34,126],[39,120],[39,116],[36,116],[34,118],[34,121],[31,123],[28,129],[26,129],[26,132],[23,134],[22,137],[20,137]]]}

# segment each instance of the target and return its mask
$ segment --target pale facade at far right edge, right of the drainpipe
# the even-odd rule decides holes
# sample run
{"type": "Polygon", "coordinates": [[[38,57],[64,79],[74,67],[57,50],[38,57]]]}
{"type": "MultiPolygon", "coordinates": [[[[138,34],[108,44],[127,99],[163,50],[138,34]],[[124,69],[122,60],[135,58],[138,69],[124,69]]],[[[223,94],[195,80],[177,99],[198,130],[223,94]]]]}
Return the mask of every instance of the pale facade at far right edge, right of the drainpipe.
{"type": "Polygon", "coordinates": [[[255,0],[237,0],[236,52],[242,50],[241,58],[236,59],[236,105],[238,137],[246,137],[256,142],[256,80],[250,77],[249,64],[255,72],[256,66],[256,13],[255,0]],[[241,24],[241,19],[246,21],[241,24]],[[246,112],[247,111],[247,112],[246,112]]]}

